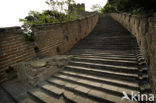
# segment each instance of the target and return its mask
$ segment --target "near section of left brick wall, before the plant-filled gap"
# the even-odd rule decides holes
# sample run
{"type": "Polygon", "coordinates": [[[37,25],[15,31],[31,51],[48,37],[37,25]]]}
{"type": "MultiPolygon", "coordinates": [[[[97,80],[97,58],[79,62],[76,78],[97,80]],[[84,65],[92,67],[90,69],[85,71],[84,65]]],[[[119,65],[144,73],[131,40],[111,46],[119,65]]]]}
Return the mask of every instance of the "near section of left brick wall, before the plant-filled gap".
{"type": "Polygon", "coordinates": [[[0,81],[15,72],[11,67],[35,56],[32,45],[27,45],[20,27],[0,29],[0,81]]]}

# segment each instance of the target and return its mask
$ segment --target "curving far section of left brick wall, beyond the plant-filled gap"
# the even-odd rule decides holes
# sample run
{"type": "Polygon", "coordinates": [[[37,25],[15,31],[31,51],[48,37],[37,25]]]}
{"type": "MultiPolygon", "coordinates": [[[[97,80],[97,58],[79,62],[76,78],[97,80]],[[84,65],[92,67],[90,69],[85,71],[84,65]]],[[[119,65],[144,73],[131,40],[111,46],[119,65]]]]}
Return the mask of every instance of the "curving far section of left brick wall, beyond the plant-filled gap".
{"type": "Polygon", "coordinates": [[[96,13],[63,24],[34,25],[37,55],[49,56],[66,52],[80,39],[86,37],[98,21],[96,13]]]}

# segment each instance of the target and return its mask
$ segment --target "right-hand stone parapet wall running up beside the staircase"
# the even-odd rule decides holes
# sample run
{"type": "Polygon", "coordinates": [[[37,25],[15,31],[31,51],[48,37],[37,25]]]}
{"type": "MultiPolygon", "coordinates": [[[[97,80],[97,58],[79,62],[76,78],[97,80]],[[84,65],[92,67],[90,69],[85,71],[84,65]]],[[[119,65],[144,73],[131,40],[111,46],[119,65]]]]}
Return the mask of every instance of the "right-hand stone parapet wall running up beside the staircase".
{"type": "Polygon", "coordinates": [[[136,37],[147,61],[153,92],[156,94],[156,17],[147,18],[127,13],[110,15],[136,37]]]}

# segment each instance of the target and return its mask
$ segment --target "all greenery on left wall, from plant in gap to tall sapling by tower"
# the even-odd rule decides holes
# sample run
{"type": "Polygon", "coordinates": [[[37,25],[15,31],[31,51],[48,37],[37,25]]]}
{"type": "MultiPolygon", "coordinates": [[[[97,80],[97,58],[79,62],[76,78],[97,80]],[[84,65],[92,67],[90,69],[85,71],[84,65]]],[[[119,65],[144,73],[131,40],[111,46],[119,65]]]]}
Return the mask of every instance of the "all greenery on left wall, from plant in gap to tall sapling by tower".
{"type": "Polygon", "coordinates": [[[23,23],[22,28],[27,41],[34,41],[31,31],[31,27],[34,24],[62,23],[76,19],[77,17],[76,10],[74,10],[74,14],[68,10],[69,5],[75,4],[74,0],[47,0],[45,3],[50,7],[49,10],[42,12],[30,11],[24,19],[19,19],[23,23]]]}

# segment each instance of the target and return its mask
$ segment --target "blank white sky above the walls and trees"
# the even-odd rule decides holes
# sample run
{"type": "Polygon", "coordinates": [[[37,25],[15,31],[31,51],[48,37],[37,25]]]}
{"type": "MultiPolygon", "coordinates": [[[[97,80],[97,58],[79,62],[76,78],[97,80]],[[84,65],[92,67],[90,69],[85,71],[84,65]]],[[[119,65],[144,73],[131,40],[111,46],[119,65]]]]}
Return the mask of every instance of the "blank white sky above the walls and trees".
{"type": "MultiPolygon", "coordinates": [[[[0,27],[20,26],[19,18],[27,16],[30,10],[42,11],[49,9],[46,0],[0,0],[0,27]]],[[[86,10],[91,11],[93,4],[102,7],[107,0],[75,0],[76,3],[85,3],[86,10]]]]}

